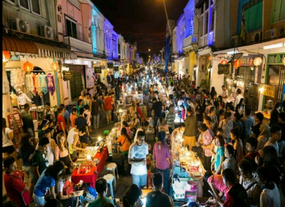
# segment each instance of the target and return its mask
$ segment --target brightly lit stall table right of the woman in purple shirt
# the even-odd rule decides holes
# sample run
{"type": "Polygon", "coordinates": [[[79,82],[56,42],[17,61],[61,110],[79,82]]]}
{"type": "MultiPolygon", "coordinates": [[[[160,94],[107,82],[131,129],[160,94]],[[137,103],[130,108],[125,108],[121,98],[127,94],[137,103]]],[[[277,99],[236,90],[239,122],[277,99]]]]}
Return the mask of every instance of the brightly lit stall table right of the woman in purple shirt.
{"type": "Polygon", "coordinates": [[[206,170],[201,160],[193,151],[183,147],[180,134],[170,135],[172,157],[172,189],[175,200],[196,200],[203,196],[203,177],[206,170]]]}

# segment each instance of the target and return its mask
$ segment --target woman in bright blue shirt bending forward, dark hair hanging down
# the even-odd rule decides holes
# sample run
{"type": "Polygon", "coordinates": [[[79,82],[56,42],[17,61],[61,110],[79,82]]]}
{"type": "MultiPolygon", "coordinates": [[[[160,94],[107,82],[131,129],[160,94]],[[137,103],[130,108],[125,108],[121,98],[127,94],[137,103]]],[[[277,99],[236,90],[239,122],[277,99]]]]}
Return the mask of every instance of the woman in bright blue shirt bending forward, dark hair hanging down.
{"type": "Polygon", "coordinates": [[[36,206],[43,206],[45,204],[45,194],[50,189],[50,196],[56,198],[54,186],[61,178],[64,172],[64,163],[56,161],[53,165],[48,166],[39,177],[34,189],[34,201],[36,206]]]}

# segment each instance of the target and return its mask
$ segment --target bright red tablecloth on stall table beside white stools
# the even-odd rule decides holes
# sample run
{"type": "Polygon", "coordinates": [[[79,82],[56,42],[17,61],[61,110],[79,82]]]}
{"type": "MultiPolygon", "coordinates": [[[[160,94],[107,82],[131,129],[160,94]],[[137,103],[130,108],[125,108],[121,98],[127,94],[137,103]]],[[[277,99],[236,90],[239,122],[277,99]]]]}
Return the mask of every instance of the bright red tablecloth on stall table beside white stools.
{"type": "Polygon", "coordinates": [[[92,167],[90,169],[90,172],[85,174],[77,174],[76,170],[74,170],[71,175],[71,181],[73,183],[78,183],[80,180],[83,180],[83,183],[90,183],[90,186],[95,188],[95,182],[99,177],[100,173],[102,172],[106,160],[109,158],[109,152],[107,147],[104,147],[102,152],[97,152],[95,158],[99,160],[99,164],[96,166],[98,173],[95,174],[95,167],[92,167]]]}

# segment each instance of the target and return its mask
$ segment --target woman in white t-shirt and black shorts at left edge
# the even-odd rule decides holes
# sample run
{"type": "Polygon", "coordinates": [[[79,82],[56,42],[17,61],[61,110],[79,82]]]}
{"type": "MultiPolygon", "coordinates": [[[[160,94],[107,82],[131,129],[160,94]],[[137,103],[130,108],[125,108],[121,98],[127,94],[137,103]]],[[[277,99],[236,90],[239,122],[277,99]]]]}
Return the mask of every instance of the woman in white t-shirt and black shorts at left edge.
{"type": "Polygon", "coordinates": [[[6,119],[2,118],[2,152],[4,154],[4,158],[15,152],[12,142],[13,137],[13,131],[7,127],[6,119]]]}

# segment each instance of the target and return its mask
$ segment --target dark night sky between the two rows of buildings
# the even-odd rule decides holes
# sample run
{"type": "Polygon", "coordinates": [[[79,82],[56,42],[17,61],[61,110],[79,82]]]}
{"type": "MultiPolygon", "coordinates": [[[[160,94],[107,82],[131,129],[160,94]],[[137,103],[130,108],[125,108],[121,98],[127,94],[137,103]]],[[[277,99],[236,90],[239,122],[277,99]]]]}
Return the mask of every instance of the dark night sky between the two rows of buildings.
{"type": "MultiPolygon", "coordinates": [[[[139,53],[165,47],[166,16],[162,0],[92,0],[120,34],[132,35],[139,53]]],[[[178,20],[189,0],[165,0],[169,19],[178,20]]]]}

